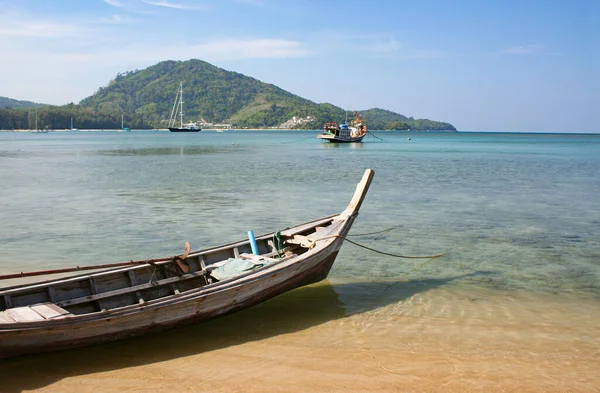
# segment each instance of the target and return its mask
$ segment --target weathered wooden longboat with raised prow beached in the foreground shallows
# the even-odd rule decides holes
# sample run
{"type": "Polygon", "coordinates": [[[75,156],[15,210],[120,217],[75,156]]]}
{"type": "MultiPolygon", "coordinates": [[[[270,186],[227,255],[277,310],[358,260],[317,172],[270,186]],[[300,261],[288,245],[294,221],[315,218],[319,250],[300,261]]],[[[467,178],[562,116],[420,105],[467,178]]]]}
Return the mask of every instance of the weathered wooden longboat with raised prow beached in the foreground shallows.
{"type": "Polygon", "coordinates": [[[374,172],[340,214],[181,255],[16,273],[73,276],[0,288],[0,358],[99,344],[242,310],[325,279],[374,172]],[[102,269],[102,270],[98,270],[102,269]],[[95,270],[81,273],[81,270],[95,270]]]}

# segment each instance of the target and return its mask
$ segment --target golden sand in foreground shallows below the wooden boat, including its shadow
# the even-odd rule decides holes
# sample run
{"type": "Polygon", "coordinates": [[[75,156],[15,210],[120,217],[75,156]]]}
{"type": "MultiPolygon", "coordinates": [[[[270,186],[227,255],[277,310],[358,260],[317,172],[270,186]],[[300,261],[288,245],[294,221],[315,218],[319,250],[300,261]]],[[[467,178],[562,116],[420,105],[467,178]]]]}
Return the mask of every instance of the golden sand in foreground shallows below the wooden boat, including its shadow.
{"type": "Polygon", "coordinates": [[[598,392],[599,303],[324,282],[203,324],[0,361],[0,390],[598,392]],[[349,304],[356,291],[366,301],[349,304]]]}

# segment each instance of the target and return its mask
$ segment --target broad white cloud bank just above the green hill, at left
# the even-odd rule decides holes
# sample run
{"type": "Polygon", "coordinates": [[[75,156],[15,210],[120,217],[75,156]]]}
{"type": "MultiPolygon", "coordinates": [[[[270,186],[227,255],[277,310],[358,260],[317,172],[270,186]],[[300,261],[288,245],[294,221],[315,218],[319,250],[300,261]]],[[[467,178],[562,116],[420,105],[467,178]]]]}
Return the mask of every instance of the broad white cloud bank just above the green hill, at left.
{"type": "MultiPolygon", "coordinates": [[[[1,46],[0,46],[1,49],[1,46]]],[[[13,48],[15,49],[15,48],[13,48]]],[[[1,95],[50,104],[78,102],[105,86],[117,73],[143,69],[164,60],[201,59],[209,63],[311,55],[302,42],[275,38],[225,38],[192,45],[88,45],[85,51],[51,48],[12,50],[0,62],[1,95]],[[43,67],[32,58],[44,59],[43,67]],[[28,83],[21,78],[27,76],[28,83]],[[39,86],[44,86],[40,89],[39,86]]]]}

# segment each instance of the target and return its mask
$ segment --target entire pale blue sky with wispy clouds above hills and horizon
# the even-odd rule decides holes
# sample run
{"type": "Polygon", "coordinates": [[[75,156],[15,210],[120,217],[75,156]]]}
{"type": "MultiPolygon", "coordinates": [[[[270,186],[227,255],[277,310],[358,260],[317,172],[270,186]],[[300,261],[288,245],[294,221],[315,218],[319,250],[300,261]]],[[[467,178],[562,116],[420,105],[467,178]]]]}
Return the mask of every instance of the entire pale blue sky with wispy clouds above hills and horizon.
{"type": "Polygon", "coordinates": [[[348,110],[600,132],[600,0],[0,0],[0,96],[201,59],[348,110]]]}

